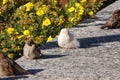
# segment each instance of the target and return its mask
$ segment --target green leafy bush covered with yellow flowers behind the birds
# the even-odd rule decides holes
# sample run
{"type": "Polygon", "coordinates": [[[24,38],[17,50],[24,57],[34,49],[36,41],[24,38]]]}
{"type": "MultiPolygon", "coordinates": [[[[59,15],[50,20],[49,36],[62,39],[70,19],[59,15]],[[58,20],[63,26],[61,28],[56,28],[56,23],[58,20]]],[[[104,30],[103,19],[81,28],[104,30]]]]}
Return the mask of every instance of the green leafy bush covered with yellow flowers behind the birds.
{"type": "Polygon", "coordinates": [[[0,1],[0,51],[17,59],[27,39],[37,45],[51,41],[62,28],[71,28],[94,16],[104,0],[61,1],[0,1]]]}

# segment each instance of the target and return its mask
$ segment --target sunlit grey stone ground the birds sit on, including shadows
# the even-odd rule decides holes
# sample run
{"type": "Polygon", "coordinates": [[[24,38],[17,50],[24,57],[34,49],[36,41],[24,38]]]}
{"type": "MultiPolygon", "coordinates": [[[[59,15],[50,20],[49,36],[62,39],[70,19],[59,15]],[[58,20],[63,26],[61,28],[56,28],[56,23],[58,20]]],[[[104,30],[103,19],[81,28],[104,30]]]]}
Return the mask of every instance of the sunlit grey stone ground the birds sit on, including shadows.
{"type": "Polygon", "coordinates": [[[57,39],[41,46],[43,57],[16,60],[34,75],[12,76],[6,80],[120,80],[120,29],[101,30],[100,26],[120,0],[102,9],[95,18],[71,28],[80,42],[78,49],[61,49],[57,39]]]}

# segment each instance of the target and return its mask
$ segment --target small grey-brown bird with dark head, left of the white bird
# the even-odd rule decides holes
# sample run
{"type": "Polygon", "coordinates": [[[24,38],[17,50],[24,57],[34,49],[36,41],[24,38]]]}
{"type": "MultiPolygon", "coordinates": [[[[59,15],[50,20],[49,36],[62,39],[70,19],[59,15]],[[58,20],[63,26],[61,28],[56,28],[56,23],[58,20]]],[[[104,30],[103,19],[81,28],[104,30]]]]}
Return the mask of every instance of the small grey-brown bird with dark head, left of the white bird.
{"type": "Polygon", "coordinates": [[[32,39],[28,39],[23,48],[23,55],[27,59],[37,59],[42,56],[40,49],[32,39]]]}

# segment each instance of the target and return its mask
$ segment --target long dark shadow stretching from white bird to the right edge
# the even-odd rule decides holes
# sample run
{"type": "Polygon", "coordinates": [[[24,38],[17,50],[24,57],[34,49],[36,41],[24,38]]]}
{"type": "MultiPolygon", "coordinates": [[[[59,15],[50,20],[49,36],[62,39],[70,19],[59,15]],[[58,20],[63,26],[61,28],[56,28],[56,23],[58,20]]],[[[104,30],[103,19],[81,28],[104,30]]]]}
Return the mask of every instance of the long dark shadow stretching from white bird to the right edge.
{"type": "Polygon", "coordinates": [[[89,48],[89,47],[101,46],[100,43],[120,41],[120,35],[83,38],[83,39],[78,39],[78,41],[80,42],[80,48],[89,48]]]}

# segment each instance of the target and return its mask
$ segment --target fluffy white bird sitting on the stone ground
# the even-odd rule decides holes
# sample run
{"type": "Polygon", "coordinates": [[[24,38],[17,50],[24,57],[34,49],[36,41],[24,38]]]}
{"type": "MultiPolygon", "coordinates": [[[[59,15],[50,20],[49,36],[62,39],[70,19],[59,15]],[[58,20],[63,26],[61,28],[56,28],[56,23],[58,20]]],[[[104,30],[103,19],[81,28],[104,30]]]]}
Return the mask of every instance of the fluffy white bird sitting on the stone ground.
{"type": "Polygon", "coordinates": [[[58,36],[58,45],[61,48],[72,49],[80,46],[77,39],[69,32],[69,29],[63,28],[58,36]]]}

